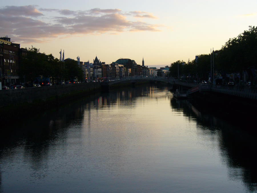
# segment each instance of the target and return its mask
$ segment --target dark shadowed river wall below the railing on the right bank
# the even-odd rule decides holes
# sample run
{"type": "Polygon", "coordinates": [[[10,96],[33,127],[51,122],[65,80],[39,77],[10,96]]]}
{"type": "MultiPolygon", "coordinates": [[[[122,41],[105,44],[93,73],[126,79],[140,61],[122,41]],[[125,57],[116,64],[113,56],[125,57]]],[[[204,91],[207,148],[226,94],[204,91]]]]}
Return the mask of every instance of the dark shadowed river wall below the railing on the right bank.
{"type": "Polygon", "coordinates": [[[244,130],[257,133],[256,127],[250,124],[257,116],[256,100],[212,91],[193,93],[188,100],[200,112],[211,113],[244,130]]]}

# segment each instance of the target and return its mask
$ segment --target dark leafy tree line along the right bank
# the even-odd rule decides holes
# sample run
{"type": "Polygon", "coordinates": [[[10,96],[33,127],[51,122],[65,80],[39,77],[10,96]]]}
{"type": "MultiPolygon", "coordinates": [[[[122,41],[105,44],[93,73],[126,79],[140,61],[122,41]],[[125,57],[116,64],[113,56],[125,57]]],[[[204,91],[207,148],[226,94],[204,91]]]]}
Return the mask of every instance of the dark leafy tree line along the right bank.
{"type": "MultiPolygon", "coordinates": [[[[211,77],[211,57],[214,59],[214,73],[226,77],[226,74],[247,71],[249,80],[257,84],[255,69],[257,69],[257,27],[249,26],[248,30],[237,37],[230,38],[220,50],[214,54],[201,54],[198,59],[188,61],[178,60],[170,65],[170,76],[182,75],[191,80],[207,80],[211,77]],[[179,72],[178,72],[179,69],[179,72]]],[[[242,78],[241,78],[242,79],[242,78]]]]}

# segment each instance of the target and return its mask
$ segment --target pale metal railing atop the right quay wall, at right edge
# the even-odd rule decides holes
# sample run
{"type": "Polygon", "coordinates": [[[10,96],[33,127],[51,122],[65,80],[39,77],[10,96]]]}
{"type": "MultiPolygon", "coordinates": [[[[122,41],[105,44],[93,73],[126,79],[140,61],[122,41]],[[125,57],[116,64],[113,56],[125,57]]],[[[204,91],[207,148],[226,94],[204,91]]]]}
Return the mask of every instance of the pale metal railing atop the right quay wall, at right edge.
{"type": "Polygon", "coordinates": [[[256,89],[216,85],[211,88],[211,91],[257,100],[256,89]]]}

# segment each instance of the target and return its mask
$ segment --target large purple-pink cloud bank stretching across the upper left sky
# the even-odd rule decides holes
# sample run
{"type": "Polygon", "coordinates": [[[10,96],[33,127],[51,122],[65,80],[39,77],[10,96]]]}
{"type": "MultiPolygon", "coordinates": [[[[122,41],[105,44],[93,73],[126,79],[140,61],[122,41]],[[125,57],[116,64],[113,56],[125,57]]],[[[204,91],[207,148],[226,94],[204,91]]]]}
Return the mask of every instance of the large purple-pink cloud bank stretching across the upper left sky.
{"type": "MultiPolygon", "coordinates": [[[[69,35],[160,31],[157,25],[128,19],[127,15],[122,13],[120,9],[95,8],[85,11],[71,11],[68,9],[40,8],[39,10],[54,14],[52,16],[44,15],[37,11],[34,5],[6,6],[0,9],[0,31],[19,43],[45,42],[51,41],[51,38],[69,35]],[[7,14],[7,10],[17,10],[18,13],[7,14]],[[56,16],[58,14],[59,16],[56,16]]],[[[141,17],[148,17],[146,12],[135,11],[131,14],[141,14],[141,17]]]]}

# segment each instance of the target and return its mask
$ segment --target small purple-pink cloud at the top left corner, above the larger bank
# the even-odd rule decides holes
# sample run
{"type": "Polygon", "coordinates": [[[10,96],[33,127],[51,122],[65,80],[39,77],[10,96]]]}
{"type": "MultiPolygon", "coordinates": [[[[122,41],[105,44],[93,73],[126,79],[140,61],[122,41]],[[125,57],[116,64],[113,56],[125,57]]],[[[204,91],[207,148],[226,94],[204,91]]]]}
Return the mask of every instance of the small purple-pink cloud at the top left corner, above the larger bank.
{"type": "Polygon", "coordinates": [[[0,9],[1,15],[11,15],[11,16],[31,16],[31,17],[39,17],[43,16],[43,13],[40,13],[35,5],[27,5],[27,6],[5,6],[0,9]]]}

